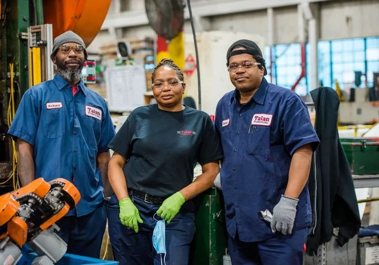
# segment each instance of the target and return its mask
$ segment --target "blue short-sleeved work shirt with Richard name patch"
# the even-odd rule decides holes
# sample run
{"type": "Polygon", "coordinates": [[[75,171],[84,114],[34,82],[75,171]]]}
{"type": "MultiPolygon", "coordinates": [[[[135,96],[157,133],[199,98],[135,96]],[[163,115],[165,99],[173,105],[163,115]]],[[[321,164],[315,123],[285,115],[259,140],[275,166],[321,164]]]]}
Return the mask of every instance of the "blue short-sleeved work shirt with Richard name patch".
{"type": "Polygon", "coordinates": [[[103,203],[103,180],[96,157],[115,135],[105,100],[84,86],[72,87],[60,75],[24,94],[8,131],[34,146],[35,177],[64,178],[81,194],[67,215],[91,213],[103,203]]]}

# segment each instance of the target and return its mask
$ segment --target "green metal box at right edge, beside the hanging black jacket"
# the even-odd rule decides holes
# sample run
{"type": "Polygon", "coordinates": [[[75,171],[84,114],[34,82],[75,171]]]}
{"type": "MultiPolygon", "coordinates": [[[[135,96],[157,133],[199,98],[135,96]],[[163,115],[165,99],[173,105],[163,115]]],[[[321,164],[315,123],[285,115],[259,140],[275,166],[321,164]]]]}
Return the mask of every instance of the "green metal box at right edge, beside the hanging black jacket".
{"type": "Polygon", "coordinates": [[[352,174],[379,174],[379,137],[341,138],[340,142],[352,174]]]}

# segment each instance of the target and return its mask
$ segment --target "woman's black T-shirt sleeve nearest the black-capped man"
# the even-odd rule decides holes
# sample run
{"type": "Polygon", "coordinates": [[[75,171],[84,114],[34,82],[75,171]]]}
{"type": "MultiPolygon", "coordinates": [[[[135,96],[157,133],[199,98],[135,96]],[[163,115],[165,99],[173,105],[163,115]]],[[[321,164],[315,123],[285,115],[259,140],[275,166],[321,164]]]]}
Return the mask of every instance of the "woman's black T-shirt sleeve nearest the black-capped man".
{"type": "Polygon", "coordinates": [[[198,162],[201,165],[205,165],[210,162],[221,160],[224,157],[223,151],[211,117],[207,117],[203,134],[204,137],[199,149],[198,162]]]}

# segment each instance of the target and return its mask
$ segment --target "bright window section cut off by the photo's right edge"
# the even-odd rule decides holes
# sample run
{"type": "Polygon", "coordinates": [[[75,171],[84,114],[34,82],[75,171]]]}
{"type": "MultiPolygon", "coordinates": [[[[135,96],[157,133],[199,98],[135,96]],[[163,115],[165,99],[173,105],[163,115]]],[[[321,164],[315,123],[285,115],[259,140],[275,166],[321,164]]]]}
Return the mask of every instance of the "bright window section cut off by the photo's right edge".
{"type": "Polygon", "coordinates": [[[373,86],[373,73],[379,72],[379,37],[366,39],[367,86],[373,86]]]}

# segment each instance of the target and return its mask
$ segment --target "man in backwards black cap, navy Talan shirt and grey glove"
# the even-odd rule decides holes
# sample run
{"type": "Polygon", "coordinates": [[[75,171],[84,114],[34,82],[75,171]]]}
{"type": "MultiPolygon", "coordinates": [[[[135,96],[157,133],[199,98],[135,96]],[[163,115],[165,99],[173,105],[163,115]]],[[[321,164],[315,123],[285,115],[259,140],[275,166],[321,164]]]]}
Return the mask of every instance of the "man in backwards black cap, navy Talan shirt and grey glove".
{"type": "Polygon", "coordinates": [[[290,89],[266,81],[256,43],[232,44],[227,67],[235,90],[219,101],[215,126],[232,263],[301,265],[311,222],[307,180],[319,144],[308,109],[290,89]],[[266,209],[271,219],[260,218],[266,209]]]}

